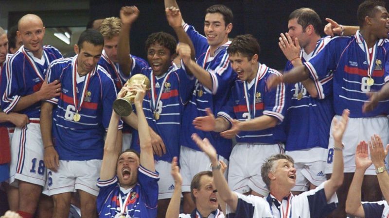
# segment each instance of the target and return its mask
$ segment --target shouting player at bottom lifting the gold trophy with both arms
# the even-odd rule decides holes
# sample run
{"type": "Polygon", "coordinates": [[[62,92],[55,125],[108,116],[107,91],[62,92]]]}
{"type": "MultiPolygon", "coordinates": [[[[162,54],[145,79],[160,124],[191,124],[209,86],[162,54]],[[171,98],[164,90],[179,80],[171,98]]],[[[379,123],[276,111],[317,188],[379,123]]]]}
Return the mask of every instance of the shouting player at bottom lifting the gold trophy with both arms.
{"type": "Polygon", "coordinates": [[[97,211],[100,218],[155,218],[159,173],[155,170],[149,126],[142,109],[145,87],[125,86],[119,92],[118,98],[124,97],[127,91],[136,93],[134,104],[137,110],[141,153],[134,150],[120,153],[121,147],[118,147],[116,142],[120,116],[112,111],[98,181],[100,192],[97,197],[97,211]]]}

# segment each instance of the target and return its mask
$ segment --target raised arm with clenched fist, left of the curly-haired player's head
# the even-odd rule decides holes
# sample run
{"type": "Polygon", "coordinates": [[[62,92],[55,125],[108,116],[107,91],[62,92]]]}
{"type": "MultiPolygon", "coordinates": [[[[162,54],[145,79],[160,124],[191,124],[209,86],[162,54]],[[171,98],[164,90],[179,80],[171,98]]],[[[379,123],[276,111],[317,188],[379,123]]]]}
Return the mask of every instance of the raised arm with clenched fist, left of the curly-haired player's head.
{"type": "Polygon", "coordinates": [[[132,24],[139,16],[139,10],[135,6],[125,6],[120,9],[120,19],[122,20],[122,31],[118,42],[119,65],[125,74],[130,74],[132,58],[130,58],[130,30],[132,24]]]}

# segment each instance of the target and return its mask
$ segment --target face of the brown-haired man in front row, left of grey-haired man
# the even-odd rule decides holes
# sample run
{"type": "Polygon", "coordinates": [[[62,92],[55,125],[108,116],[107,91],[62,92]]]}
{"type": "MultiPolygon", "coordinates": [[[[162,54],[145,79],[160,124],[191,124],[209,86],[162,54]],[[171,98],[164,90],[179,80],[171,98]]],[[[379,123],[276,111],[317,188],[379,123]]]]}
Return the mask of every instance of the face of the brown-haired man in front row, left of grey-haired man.
{"type": "Polygon", "coordinates": [[[193,189],[193,195],[196,200],[196,208],[201,211],[214,211],[219,206],[217,201],[215,184],[213,183],[213,177],[203,175],[200,178],[200,187],[193,189]]]}

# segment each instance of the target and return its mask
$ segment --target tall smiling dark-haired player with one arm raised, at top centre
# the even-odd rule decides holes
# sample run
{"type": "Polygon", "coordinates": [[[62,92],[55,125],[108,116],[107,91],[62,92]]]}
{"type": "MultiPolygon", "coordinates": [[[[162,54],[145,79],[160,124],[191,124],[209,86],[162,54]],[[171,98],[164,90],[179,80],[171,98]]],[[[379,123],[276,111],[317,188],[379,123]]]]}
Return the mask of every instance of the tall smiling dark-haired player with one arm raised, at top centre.
{"type": "MultiPolygon", "coordinates": [[[[175,7],[178,9],[176,0],[165,0],[165,9],[175,7]]],[[[235,80],[235,74],[230,67],[227,47],[230,45],[228,34],[232,30],[232,11],[225,5],[212,5],[206,10],[204,19],[204,33],[201,35],[193,26],[181,21],[182,28],[193,42],[195,47],[196,62],[186,63],[195,76],[195,91],[190,104],[185,108],[185,117],[181,128],[180,166],[183,177],[182,191],[184,197],[183,209],[190,213],[195,204],[190,195],[190,182],[193,176],[200,171],[210,169],[207,156],[199,151],[191,140],[192,133],[201,137],[207,137],[212,141],[219,154],[219,159],[228,164],[231,152],[231,140],[220,137],[216,132],[204,132],[192,125],[193,120],[199,116],[206,116],[206,108],[213,113],[220,111],[230,95],[230,87],[235,80]]],[[[177,32],[177,30],[175,30],[177,32]]],[[[180,34],[177,34],[181,42],[180,34]]]]}

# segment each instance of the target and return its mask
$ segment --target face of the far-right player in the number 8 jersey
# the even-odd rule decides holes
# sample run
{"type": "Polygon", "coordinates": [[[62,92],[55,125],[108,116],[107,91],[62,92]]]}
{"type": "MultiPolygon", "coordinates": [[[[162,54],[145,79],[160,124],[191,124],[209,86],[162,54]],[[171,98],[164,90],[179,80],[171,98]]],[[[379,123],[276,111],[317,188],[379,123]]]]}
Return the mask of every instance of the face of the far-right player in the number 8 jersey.
{"type": "Polygon", "coordinates": [[[388,38],[389,34],[389,14],[386,8],[376,6],[376,12],[371,17],[371,29],[380,39],[388,38]]]}

